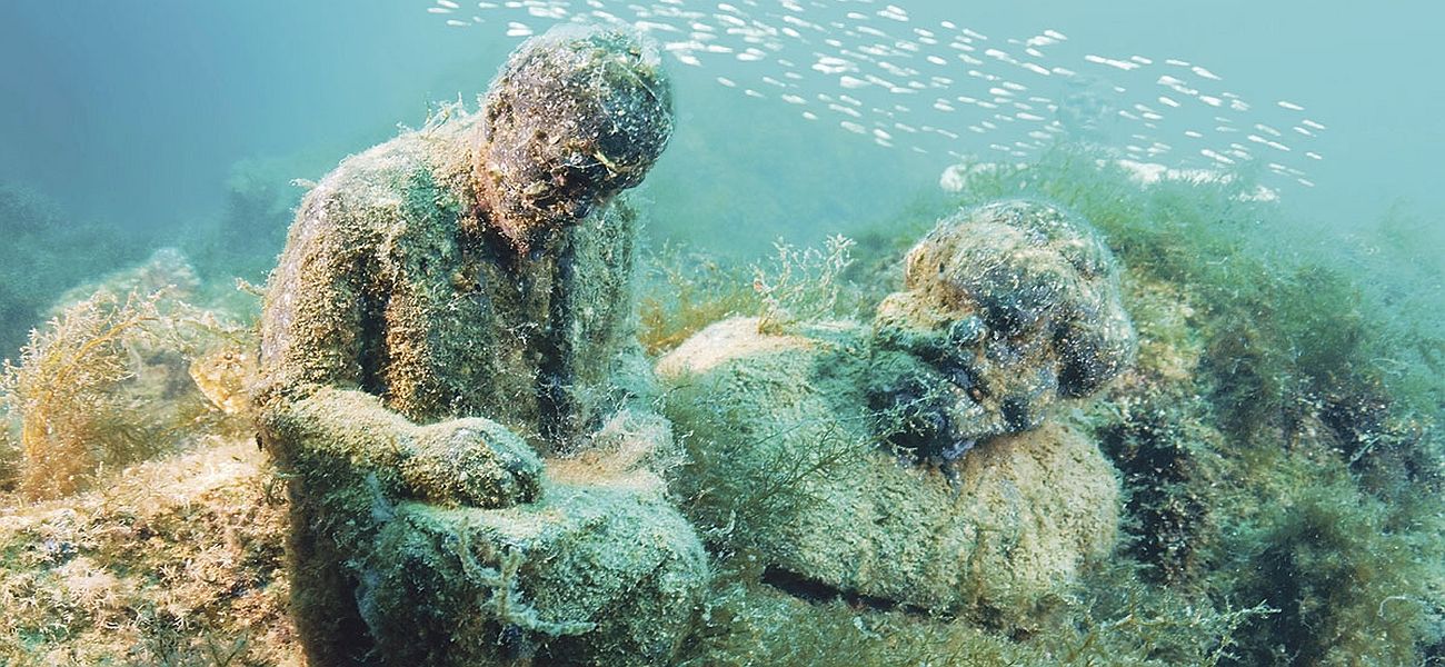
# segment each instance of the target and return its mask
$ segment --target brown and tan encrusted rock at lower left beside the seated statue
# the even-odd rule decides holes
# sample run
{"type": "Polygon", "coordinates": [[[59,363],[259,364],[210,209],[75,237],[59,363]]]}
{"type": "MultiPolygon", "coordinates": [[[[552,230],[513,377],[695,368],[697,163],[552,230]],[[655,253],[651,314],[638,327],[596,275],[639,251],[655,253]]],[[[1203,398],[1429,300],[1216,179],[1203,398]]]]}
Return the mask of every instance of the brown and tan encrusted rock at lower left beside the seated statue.
{"type": "Polygon", "coordinates": [[[0,505],[0,663],[301,666],[283,484],[253,442],[0,505]]]}

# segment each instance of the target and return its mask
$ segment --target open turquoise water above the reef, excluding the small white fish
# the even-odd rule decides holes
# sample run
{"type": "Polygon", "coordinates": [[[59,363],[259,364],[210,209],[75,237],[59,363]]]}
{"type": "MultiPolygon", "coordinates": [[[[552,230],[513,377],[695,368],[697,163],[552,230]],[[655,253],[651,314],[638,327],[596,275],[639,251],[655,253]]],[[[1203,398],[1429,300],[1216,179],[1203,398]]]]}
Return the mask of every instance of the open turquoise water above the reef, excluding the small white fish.
{"type": "MultiPolygon", "coordinates": [[[[569,16],[588,12],[584,3],[572,4],[569,16]]],[[[705,14],[702,23],[728,27],[714,17],[727,14],[715,3],[692,4],[660,6],[696,10],[705,14]]],[[[749,20],[789,27],[780,16],[790,12],[780,4],[737,4],[749,20]]],[[[1433,9],[1420,3],[1328,10],[1312,3],[1248,1],[1182,7],[1142,1],[957,7],[906,3],[902,9],[907,22],[877,16],[887,6],[881,1],[801,4],[806,12],[799,16],[838,32],[835,38],[842,48],[880,40],[841,35],[860,25],[886,29],[889,39],[883,42],[916,40],[915,29],[935,32],[941,43],[919,45],[920,51],[909,53],[910,58],[896,61],[928,69],[926,55],[949,58],[954,71],[948,75],[958,82],[952,87],[957,90],[928,90],[899,101],[918,107],[913,115],[919,121],[912,124],[933,124],[961,139],[919,137],[926,139],[931,154],[918,156],[903,147],[910,137],[890,128],[899,134],[899,149],[879,150],[867,137],[841,130],[838,121],[850,118],[828,111],[825,104],[818,108],[812,95],[808,95],[811,108],[821,120],[801,118],[801,110],[780,101],[782,91],[762,81],[767,75],[783,78],[777,58],[792,59],[808,75],[809,92],[854,92],[860,98],[874,92],[842,90],[835,78],[829,81],[809,69],[814,52],[838,51],[822,43],[827,36],[811,30],[805,35],[808,43],[786,35],[772,38],[780,49],[764,49],[769,58],[763,61],[740,62],[718,53],[702,53],[699,68],[673,61],[682,123],[676,146],[653,180],[673,189],[672,183],[696,179],[685,165],[695,165],[699,154],[753,175],[725,179],[711,173],[704,179],[718,201],[753,204],[740,208],[750,211],[744,214],[749,227],[759,228],[754,248],[766,248],[764,241],[776,234],[816,237],[822,230],[811,228],[812,221],[827,219],[825,228],[831,228],[835,222],[887,215],[955,162],[948,157],[951,150],[987,156],[988,144],[997,139],[1027,140],[1017,131],[968,133],[968,126],[988,120],[993,111],[967,104],[955,103],[959,110],[952,114],[922,113],[938,97],[987,98],[978,95],[977,87],[967,85],[971,84],[967,66],[954,58],[959,52],[946,46],[946,33],[957,30],[941,27],[941,22],[988,36],[988,42],[980,42],[980,52],[1000,46],[1020,59],[1029,58],[1019,45],[1009,45],[1009,39],[1027,40],[1045,30],[1068,36],[1066,42],[1045,46],[1046,56],[1035,61],[1092,78],[1095,88],[1104,87],[1100,104],[1129,110],[1137,101],[1168,113],[1169,121],[1157,131],[1137,128],[1147,130],[1142,131],[1147,136],[1143,146],[1157,140],[1175,147],[1160,162],[1208,163],[1198,156],[1198,147],[1189,146],[1194,141],[1182,136],[1185,130],[1220,137],[1214,131],[1218,123],[1202,115],[1208,111],[1202,105],[1191,103],[1189,107],[1201,108],[1170,110],[1157,103],[1157,95],[1172,94],[1155,84],[1159,75],[1179,75],[1205,94],[1238,94],[1253,108],[1231,114],[1246,130],[1234,140],[1251,149],[1260,162],[1282,162],[1309,173],[1316,186],[1289,188],[1287,201],[1315,219],[1314,225],[1348,230],[1377,217],[1396,199],[1428,212],[1445,204],[1431,176],[1433,146],[1445,139],[1445,121],[1432,110],[1445,90],[1433,71],[1438,61],[1431,46],[1433,9]],[[867,19],[848,19],[850,12],[867,19]],[[832,22],[844,29],[831,27],[832,22]],[[1137,55],[1155,64],[1124,72],[1085,62],[1082,56],[1090,53],[1113,59],[1137,55]],[[1204,66],[1222,81],[1170,68],[1163,64],[1168,59],[1204,66]],[[749,98],[741,88],[721,88],[715,77],[737,79],[767,98],[749,98]],[[1129,88],[1118,100],[1108,94],[1113,81],[1129,88]],[[1276,105],[1280,100],[1306,111],[1289,114],[1276,105]],[[1186,121],[1186,114],[1199,118],[1186,121]],[[1312,118],[1328,130],[1312,140],[1295,134],[1290,127],[1299,118],[1312,118]],[[1270,154],[1270,149],[1244,140],[1243,134],[1264,134],[1250,127],[1253,121],[1286,133],[1285,143],[1295,152],[1270,154]],[[764,147],[769,154],[760,159],[764,147]],[[1314,149],[1324,160],[1300,154],[1314,149]],[[868,196],[844,199],[840,195],[844,192],[868,196]]],[[[629,3],[603,6],[620,19],[636,19],[629,3]]],[[[0,111],[0,136],[9,149],[0,156],[0,176],[40,191],[75,217],[172,232],[217,215],[225,179],[238,160],[293,157],[292,178],[316,178],[340,156],[390,136],[397,123],[420,124],[429,104],[475,95],[500,58],[522,39],[506,36],[509,22],[538,30],[551,22],[529,16],[522,7],[468,6],[447,14],[426,10],[426,3],[270,0],[234,6],[168,0],[149,4],[144,12],[103,3],[6,7],[6,39],[0,49],[13,65],[3,84],[9,104],[0,111]],[[473,16],[483,23],[470,27],[445,23],[457,19],[471,23],[473,16]]],[[[666,40],[686,40],[692,32],[679,20],[656,19],[656,23],[675,23],[682,30],[655,30],[666,40]]],[[[738,51],[749,46],[738,36],[724,38],[718,43],[738,51]]],[[[1029,94],[1055,101],[1068,97],[1066,84],[974,55],[988,61],[981,69],[1030,85],[1029,94]]],[[[871,98],[867,101],[873,105],[871,98]]],[[[863,124],[871,130],[871,123],[863,124]]],[[[1118,149],[1140,141],[1130,137],[1134,133],[1130,127],[1118,127],[1124,124],[1110,127],[1105,136],[1118,149]]],[[[1217,141],[1212,146],[1221,147],[1217,141]]],[[[666,196],[659,196],[659,202],[669,206],[659,218],[670,217],[670,206],[685,208],[683,201],[666,196]]]]}

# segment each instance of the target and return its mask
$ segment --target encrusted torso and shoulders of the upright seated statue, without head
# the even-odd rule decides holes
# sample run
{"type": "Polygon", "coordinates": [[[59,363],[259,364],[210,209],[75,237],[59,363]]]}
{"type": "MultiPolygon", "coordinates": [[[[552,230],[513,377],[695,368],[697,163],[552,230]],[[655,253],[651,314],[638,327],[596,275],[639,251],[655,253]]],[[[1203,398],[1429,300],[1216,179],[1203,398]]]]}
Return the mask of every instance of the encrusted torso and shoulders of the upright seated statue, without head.
{"type": "Polygon", "coordinates": [[[565,448],[616,403],[608,375],[630,352],[634,221],[605,206],[519,254],[474,211],[462,150],[474,136],[471,118],[403,134],[308,195],[273,279],[295,293],[269,300],[266,346],[273,357],[329,352],[276,339],[306,338],[285,331],[295,328],[293,313],[277,312],[286,303],[355,308],[355,359],[341,375],[357,388],[416,422],[481,416],[565,448]],[[311,221],[321,222],[308,234],[311,221]],[[350,280],[355,303],[312,303],[325,297],[302,293],[309,280],[285,276],[308,270],[350,280]]]}

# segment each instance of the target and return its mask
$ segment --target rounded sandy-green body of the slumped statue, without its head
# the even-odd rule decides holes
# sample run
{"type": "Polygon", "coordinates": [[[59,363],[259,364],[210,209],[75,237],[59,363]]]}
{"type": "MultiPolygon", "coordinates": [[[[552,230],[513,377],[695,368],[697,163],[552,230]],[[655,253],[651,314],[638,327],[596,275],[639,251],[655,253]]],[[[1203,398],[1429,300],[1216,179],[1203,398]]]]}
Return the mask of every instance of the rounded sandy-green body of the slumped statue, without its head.
{"type": "Polygon", "coordinates": [[[900,606],[1032,627],[1113,546],[1117,482],[1065,426],[978,445],[949,474],[900,462],[866,396],[866,329],[704,329],[665,357],[666,414],[692,432],[679,492],[770,575],[900,606]]]}

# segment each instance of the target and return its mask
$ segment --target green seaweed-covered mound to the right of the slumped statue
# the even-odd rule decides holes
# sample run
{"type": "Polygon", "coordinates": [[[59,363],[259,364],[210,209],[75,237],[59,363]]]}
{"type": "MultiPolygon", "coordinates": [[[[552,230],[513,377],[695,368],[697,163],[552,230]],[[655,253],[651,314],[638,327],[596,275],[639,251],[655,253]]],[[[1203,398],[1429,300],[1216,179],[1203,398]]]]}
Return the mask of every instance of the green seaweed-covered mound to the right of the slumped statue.
{"type": "Polygon", "coordinates": [[[1140,183],[1061,150],[978,170],[964,201],[1055,198],[1126,264],[1139,370],[1092,419],[1126,475],[1126,553],[1143,572],[1196,601],[1279,609],[1243,624],[1224,663],[1419,663],[1438,655],[1445,608],[1439,381],[1397,359],[1438,336],[1429,315],[1368,300],[1363,276],[1254,192],[1241,175],[1140,183]]]}

